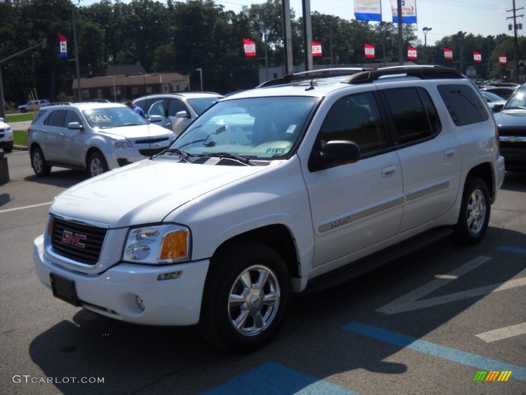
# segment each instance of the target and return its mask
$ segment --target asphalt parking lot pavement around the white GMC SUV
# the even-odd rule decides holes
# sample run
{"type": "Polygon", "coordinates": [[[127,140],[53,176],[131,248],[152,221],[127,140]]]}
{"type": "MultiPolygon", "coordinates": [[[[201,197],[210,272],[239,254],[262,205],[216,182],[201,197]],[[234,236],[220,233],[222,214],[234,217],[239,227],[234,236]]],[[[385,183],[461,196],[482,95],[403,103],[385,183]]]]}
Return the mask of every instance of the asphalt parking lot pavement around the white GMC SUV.
{"type": "Polygon", "coordinates": [[[298,295],[274,342],[230,355],[193,327],[125,324],[53,298],[36,278],[32,241],[54,196],[85,176],[54,169],[38,179],[27,152],[6,157],[2,393],[526,394],[524,174],[507,173],[482,243],[443,240],[298,295]]]}

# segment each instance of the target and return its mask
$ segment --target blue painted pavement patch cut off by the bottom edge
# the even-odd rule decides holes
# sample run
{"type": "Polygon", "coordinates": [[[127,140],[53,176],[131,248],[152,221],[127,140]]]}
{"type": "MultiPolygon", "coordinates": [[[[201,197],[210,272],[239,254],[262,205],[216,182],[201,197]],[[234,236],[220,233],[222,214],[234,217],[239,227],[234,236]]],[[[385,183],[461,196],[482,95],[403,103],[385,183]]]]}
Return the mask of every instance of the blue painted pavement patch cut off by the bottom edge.
{"type": "Polygon", "coordinates": [[[325,380],[287,368],[275,362],[267,362],[255,369],[211,388],[203,395],[359,395],[325,380]]]}

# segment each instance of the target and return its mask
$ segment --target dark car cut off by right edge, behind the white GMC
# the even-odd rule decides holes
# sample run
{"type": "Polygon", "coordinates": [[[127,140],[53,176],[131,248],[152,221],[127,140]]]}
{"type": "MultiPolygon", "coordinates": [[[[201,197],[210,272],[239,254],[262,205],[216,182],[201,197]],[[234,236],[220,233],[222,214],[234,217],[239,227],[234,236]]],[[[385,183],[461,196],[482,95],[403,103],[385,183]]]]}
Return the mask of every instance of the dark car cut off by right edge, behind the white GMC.
{"type": "Polygon", "coordinates": [[[526,85],[522,85],[504,106],[493,114],[506,170],[526,171],[526,85]]]}

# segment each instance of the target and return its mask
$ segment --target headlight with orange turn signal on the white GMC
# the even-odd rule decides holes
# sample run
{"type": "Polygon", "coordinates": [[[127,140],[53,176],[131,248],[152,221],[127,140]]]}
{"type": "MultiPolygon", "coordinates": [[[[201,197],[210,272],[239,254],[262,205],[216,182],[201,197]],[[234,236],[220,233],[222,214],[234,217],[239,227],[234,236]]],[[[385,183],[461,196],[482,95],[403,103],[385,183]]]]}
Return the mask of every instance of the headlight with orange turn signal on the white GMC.
{"type": "Polygon", "coordinates": [[[128,231],[123,261],[161,265],[186,261],[190,253],[190,230],[181,225],[155,225],[128,231]]]}

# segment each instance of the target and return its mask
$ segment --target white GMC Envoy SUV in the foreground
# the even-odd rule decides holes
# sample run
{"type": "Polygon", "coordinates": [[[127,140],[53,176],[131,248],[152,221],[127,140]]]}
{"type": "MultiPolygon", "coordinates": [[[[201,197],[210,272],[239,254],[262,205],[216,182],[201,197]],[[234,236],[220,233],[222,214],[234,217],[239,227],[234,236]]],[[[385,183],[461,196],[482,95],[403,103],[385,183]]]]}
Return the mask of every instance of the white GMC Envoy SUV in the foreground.
{"type": "Polygon", "coordinates": [[[489,108],[452,68],[292,74],[58,195],[36,272],[106,317],[199,324],[215,345],[255,350],[291,292],[443,236],[479,242],[503,177],[489,108]]]}

